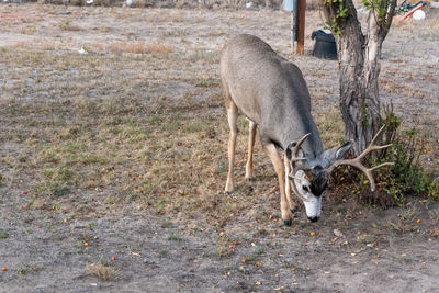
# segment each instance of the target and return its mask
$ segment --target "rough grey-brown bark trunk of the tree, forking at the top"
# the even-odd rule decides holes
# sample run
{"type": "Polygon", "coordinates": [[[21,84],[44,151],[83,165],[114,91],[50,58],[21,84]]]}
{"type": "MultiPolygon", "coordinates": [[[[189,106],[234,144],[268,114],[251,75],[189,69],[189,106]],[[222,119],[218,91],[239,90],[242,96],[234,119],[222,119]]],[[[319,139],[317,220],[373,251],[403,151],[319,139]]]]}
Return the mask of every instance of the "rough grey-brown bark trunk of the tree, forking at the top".
{"type": "Polygon", "coordinates": [[[352,0],[320,0],[326,20],[338,35],[337,49],[340,80],[340,109],[348,139],[360,154],[381,126],[378,78],[383,41],[392,24],[396,0],[372,4],[367,33],[361,31],[352,0]],[[340,9],[346,9],[340,13],[340,9]],[[384,15],[383,12],[385,11],[384,15]],[[342,15],[342,16],[340,16],[342,15]]]}

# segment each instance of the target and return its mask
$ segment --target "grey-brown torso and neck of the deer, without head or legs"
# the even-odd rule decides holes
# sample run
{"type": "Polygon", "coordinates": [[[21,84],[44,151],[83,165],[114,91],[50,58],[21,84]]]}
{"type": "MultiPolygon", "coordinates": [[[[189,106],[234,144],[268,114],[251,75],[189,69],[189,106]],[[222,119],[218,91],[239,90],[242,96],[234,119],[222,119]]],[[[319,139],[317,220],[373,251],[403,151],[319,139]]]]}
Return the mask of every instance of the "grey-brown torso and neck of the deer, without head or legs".
{"type": "Polygon", "coordinates": [[[301,70],[266,42],[246,34],[232,38],[223,48],[221,78],[232,101],[259,125],[262,144],[285,149],[311,133],[303,150],[311,157],[323,151],[301,70]]]}

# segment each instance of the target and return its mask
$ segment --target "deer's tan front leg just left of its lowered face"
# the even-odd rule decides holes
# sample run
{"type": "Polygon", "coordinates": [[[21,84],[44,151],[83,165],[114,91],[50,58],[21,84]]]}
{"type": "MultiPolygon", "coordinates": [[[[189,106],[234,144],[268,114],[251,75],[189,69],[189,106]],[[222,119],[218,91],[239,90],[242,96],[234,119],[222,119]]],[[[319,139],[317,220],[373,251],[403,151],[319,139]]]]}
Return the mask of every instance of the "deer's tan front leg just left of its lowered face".
{"type": "Polygon", "coordinates": [[[285,224],[286,226],[291,226],[292,214],[289,209],[289,203],[285,194],[285,176],[283,173],[282,160],[279,157],[278,150],[275,149],[275,146],[273,144],[263,145],[263,150],[266,151],[267,156],[271,159],[271,162],[273,164],[274,167],[274,171],[278,174],[279,190],[281,191],[281,212],[282,212],[283,224],[285,224]]]}

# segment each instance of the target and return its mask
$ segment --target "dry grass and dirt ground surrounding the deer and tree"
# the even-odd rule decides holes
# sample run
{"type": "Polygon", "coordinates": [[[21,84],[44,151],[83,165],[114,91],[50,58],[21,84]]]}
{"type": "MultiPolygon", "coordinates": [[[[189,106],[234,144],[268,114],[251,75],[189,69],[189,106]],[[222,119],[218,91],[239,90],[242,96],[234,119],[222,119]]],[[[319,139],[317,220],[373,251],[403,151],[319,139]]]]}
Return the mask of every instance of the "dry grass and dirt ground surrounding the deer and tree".
{"type": "MultiPolygon", "coordinates": [[[[223,194],[217,61],[230,35],[259,35],[294,60],[325,144],[342,137],[337,64],[309,54],[317,11],[304,56],[291,54],[281,12],[30,4],[1,5],[0,16],[0,291],[439,290],[434,200],[383,211],[333,188],[320,222],[300,211],[284,227],[260,147],[257,182],[244,181],[244,120],[238,190],[223,194]]],[[[380,80],[404,127],[427,137],[432,172],[438,26],[432,10],[394,26],[380,80]]]]}

